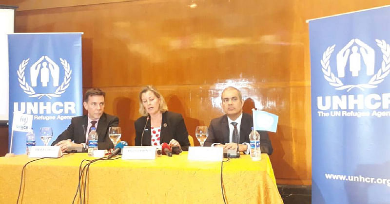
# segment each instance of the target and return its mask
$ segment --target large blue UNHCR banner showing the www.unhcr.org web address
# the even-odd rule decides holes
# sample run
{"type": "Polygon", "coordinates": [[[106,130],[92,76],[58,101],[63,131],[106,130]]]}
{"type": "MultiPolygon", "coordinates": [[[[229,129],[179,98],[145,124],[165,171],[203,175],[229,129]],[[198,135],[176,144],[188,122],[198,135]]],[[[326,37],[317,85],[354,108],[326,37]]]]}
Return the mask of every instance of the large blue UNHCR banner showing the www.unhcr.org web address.
{"type": "Polygon", "coordinates": [[[312,203],[390,203],[390,7],[309,22],[312,203]]]}

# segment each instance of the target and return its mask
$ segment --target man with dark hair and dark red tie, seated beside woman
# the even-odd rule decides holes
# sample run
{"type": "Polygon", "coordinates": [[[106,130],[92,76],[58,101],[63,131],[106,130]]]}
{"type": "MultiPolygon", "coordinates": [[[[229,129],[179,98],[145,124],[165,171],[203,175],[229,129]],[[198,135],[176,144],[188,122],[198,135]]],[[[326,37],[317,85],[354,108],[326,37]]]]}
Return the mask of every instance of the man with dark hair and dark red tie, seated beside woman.
{"type": "Polygon", "coordinates": [[[85,92],[83,106],[88,111],[87,115],[74,117],[69,127],[62,132],[52,145],[60,146],[61,151],[69,147],[86,147],[88,133],[92,127],[96,127],[98,133],[98,149],[114,148],[108,136],[109,127],[119,124],[116,116],[104,113],[105,93],[98,88],[91,88],[85,92]],[[74,141],[74,142],[72,142],[74,141]]]}

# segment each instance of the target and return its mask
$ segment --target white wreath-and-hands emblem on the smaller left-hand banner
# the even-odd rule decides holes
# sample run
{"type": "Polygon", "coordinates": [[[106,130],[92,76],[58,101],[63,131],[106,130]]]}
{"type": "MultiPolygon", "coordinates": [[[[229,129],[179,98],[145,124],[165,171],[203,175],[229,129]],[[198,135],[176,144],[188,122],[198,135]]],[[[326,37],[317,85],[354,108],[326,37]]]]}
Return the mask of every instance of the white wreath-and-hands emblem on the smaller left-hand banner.
{"type": "Polygon", "coordinates": [[[30,58],[23,60],[19,65],[19,69],[17,70],[19,85],[23,89],[24,93],[28,94],[29,97],[38,97],[39,99],[43,96],[46,96],[49,99],[52,97],[60,97],[61,94],[64,93],[65,90],[69,87],[69,83],[72,78],[72,70],[70,69],[69,63],[65,59],[59,58],[62,67],[65,70],[64,81],[61,85],[59,85],[59,66],[48,56],[40,57],[39,60],[30,67],[30,86],[26,81],[26,77],[24,76],[24,70],[29,60],[30,58]],[[40,79],[38,79],[39,73],[40,79]],[[56,91],[54,93],[36,93],[33,87],[37,86],[37,82],[40,82],[43,87],[46,87],[49,83],[50,76],[52,77],[53,86],[58,86],[56,91]]]}

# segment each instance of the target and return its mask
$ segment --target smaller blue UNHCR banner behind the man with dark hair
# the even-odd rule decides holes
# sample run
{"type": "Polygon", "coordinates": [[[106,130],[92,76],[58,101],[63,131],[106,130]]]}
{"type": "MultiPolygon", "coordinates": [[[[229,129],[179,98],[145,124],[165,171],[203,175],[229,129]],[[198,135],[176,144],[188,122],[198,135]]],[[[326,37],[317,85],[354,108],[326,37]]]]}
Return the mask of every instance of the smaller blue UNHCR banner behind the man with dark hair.
{"type": "MultiPolygon", "coordinates": [[[[81,34],[8,34],[9,118],[33,115],[37,145],[40,127],[51,127],[54,141],[82,115],[81,34]]],[[[12,145],[12,153],[25,153],[26,133],[14,132],[12,145]]]]}

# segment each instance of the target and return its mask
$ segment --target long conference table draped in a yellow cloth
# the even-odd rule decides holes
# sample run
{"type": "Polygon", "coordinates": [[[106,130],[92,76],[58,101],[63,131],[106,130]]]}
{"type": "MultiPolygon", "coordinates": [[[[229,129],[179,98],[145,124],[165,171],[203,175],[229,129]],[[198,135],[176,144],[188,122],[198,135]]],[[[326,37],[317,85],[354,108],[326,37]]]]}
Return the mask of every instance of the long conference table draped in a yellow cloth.
{"type": "MultiPolygon", "coordinates": [[[[89,167],[85,203],[223,204],[221,162],[187,157],[188,152],[183,152],[172,157],[156,156],[155,160],[118,158],[94,162],[89,167]]],[[[17,202],[22,167],[34,159],[27,155],[0,157],[1,204],[17,202]]],[[[26,165],[19,203],[71,204],[83,159],[95,158],[87,153],[70,153],[26,165]]],[[[241,155],[223,162],[222,174],[227,204],[283,203],[265,153],[261,154],[261,161],[241,155]]],[[[80,203],[79,195],[75,203],[80,203]]]]}

